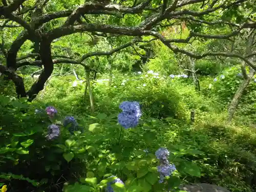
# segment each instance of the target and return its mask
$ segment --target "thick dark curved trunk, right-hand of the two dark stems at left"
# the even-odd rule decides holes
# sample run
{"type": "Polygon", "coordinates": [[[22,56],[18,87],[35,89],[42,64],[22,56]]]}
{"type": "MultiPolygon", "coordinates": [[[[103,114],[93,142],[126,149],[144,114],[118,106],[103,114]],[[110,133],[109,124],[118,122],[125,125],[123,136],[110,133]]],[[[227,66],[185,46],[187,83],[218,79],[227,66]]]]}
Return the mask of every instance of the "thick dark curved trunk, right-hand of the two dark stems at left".
{"type": "Polygon", "coordinates": [[[36,95],[44,89],[46,81],[53,72],[51,41],[49,41],[48,39],[43,38],[40,42],[40,57],[42,65],[44,66],[44,70],[28,92],[29,101],[32,101],[36,97],[36,95]]]}

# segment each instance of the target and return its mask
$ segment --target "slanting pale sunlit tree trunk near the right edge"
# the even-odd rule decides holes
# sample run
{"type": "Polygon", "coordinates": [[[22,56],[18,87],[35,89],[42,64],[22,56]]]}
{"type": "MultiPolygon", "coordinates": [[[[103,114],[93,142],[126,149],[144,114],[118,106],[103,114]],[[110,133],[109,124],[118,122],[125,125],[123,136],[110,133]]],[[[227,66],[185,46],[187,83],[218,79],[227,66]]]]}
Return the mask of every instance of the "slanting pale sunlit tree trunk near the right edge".
{"type": "Polygon", "coordinates": [[[234,97],[233,97],[231,103],[229,104],[229,108],[228,108],[227,123],[231,122],[231,120],[234,116],[234,113],[236,113],[239,101],[240,101],[241,97],[243,96],[244,90],[250,83],[254,74],[255,74],[255,71],[252,72],[252,74],[248,75],[248,78],[243,80],[243,82],[240,84],[236,94],[234,94],[234,97]]]}

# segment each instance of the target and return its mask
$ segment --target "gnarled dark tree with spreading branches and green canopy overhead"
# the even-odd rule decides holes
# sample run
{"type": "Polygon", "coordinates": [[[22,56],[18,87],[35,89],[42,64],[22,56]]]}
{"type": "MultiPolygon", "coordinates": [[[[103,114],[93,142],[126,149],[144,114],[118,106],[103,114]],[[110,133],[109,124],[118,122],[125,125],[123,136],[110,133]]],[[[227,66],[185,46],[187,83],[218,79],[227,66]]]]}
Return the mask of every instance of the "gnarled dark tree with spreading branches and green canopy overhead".
{"type": "MultiPolygon", "coordinates": [[[[16,86],[18,97],[33,100],[44,88],[45,82],[53,72],[55,63],[84,65],[83,61],[95,55],[111,55],[137,42],[159,39],[174,53],[186,54],[200,59],[207,56],[237,57],[248,66],[256,69],[249,58],[256,53],[242,55],[233,52],[189,51],[182,44],[193,45],[197,41],[213,39],[232,40],[248,28],[255,28],[254,1],[71,1],[70,3],[52,1],[2,1],[0,7],[1,28],[19,28],[20,32],[10,46],[2,42],[2,53],[6,66],[1,65],[1,73],[7,75],[16,86]],[[164,30],[174,26],[187,28],[181,38],[164,30]],[[53,55],[51,45],[59,38],[75,33],[87,33],[96,37],[130,36],[111,51],[89,52],[79,58],[65,58],[53,55]],[[24,43],[30,40],[34,50],[17,57],[24,43]],[[127,41],[128,40],[128,41],[127,41]],[[125,42],[126,41],[126,42],[125,42]],[[56,57],[56,58],[54,58],[56,57]],[[27,58],[33,58],[28,60],[27,58]],[[23,79],[16,73],[22,66],[44,66],[38,80],[29,91],[25,90],[23,79]]],[[[95,41],[96,42],[96,41],[95,41]]],[[[70,42],[72,44],[72,42],[70,42]]]]}

